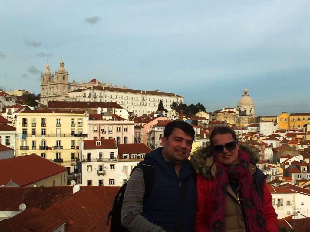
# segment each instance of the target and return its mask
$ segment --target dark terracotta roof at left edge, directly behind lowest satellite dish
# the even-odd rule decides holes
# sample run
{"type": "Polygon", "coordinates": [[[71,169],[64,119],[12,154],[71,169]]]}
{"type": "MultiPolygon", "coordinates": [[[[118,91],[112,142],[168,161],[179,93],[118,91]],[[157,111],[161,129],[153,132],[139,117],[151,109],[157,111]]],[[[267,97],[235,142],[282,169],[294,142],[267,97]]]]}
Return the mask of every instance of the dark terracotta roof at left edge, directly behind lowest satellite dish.
{"type": "Polygon", "coordinates": [[[45,210],[73,195],[73,187],[1,187],[0,211],[18,211],[21,203],[45,210]],[[34,200],[35,199],[35,200],[34,200]]]}

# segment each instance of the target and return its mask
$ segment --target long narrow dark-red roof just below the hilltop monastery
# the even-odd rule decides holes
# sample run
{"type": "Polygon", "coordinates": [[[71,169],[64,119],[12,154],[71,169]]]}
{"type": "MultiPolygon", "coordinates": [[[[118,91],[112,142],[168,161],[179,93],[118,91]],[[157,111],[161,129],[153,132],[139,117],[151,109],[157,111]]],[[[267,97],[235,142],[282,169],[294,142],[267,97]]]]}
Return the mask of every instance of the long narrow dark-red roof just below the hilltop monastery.
{"type": "Polygon", "coordinates": [[[116,102],[84,102],[84,101],[49,101],[47,108],[108,108],[108,109],[124,109],[116,102]]]}

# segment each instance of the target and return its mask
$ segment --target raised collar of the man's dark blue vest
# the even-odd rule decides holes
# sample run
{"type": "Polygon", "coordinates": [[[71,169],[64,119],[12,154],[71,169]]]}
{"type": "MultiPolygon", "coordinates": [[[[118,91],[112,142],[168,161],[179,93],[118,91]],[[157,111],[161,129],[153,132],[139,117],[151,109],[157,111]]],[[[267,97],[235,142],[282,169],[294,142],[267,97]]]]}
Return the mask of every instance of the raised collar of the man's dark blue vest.
{"type": "MultiPolygon", "coordinates": [[[[155,150],[148,153],[144,159],[152,159],[155,161],[159,166],[161,166],[164,170],[167,170],[168,173],[169,170],[171,171],[171,174],[175,175],[175,162],[174,161],[166,161],[164,157],[162,156],[162,147],[156,148],[155,150]]],[[[192,175],[194,173],[194,170],[191,167],[191,163],[189,160],[185,160],[182,164],[180,173],[179,173],[179,179],[187,178],[188,176],[192,175]]]]}

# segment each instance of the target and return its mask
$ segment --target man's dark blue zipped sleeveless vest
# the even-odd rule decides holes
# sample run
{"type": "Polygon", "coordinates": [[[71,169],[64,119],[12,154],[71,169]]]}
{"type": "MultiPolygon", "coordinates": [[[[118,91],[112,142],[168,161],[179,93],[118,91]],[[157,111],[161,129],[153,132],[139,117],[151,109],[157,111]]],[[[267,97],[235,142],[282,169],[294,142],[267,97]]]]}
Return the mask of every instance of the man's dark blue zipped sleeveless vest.
{"type": "Polygon", "coordinates": [[[155,177],[151,194],[144,201],[143,216],[157,226],[161,226],[165,231],[174,232],[180,207],[184,207],[184,216],[179,231],[193,231],[197,189],[190,162],[184,162],[178,178],[174,163],[166,162],[162,157],[162,148],[152,151],[145,159],[153,159],[155,177]],[[184,182],[187,183],[187,192],[184,205],[181,206],[184,182]]]}

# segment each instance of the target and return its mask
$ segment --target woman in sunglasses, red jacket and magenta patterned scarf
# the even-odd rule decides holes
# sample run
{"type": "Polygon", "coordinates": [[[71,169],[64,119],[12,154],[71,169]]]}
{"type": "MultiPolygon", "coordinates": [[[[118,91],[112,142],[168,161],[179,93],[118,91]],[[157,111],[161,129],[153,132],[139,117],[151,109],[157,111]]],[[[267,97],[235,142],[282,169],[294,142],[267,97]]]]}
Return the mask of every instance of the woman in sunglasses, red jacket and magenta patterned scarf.
{"type": "Polygon", "coordinates": [[[195,231],[275,232],[277,214],[259,156],[242,148],[229,127],[216,127],[191,157],[197,170],[195,231]]]}

